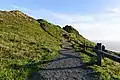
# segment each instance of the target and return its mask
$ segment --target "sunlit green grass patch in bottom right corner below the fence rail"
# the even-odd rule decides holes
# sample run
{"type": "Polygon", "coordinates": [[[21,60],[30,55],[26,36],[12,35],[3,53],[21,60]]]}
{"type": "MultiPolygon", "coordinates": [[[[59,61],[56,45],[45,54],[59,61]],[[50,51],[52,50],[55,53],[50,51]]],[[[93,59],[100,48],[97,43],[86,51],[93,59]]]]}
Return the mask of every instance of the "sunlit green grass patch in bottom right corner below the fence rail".
{"type": "Polygon", "coordinates": [[[104,58],[102,60],[102,67],[93,66],[93,68],[101,73],[104,80],[120,80],[120,63],[104,58]]]}

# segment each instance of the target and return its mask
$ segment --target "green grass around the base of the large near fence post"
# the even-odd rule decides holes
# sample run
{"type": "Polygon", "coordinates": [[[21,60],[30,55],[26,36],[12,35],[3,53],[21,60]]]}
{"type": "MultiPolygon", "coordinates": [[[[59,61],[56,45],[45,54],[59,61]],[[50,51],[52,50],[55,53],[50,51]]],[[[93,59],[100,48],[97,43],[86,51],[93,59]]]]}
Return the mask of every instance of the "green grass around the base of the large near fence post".
{"type": "MultiPolygon", "coordinates": [[[[93,52],[91,52],[90,50],[87,50],[87,52],[93,54],[93,52]]],[[[84,63],[91,63],[96,60],[95,57],[90,57],[85,53],[80,52],[80,55],[83,57],[82,60],[84,63]]],[[[89,67],[95,70],[96,73],[99,73],[99,76],[102,80],[120,80],[120,63],[118,62],[112,61],[108,58],[104,58],[102,59],[102,66],[92,65],[89,67]]]]}

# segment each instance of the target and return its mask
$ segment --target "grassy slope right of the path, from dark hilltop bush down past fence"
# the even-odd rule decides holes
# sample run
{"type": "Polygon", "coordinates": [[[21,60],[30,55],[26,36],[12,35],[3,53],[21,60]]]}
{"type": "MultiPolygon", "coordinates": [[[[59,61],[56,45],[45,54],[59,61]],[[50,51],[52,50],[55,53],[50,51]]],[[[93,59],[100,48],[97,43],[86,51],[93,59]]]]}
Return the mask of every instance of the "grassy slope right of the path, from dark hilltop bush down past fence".
{"type": "MultiPolygon", "coordinates": [[[[72,26],[66,26],[63,28],[70,34],[71,42],[73,43],[73,47],[75,50],[83,50],[83,48],[79,47],[75,41],[79,42],[80,44],[85,44],[89,46],[95,46],[95,43],[85,39],[82,35],[79,35],[77,30],[75,30],[72,26]]],[[[86,52],[96,55],[96,53],[92,52],[92,50],[86,50],[86,52]]],[[[119,53],[111,53],[114,55],[118,55],[119,53]]],[[[89,57],[85,54],[85,52],[80,52],[80,55],[83,56],[83,61],[87,63],[91,63],[96,60],[95,57],[89,57]]],[[[102,60],[102,66],[92,65],[90,68],[96,70],[98,75],[101,77],[102,80],[120,80],[120,63],[112,61],[110,59],[104,58],[102,60]]]]}

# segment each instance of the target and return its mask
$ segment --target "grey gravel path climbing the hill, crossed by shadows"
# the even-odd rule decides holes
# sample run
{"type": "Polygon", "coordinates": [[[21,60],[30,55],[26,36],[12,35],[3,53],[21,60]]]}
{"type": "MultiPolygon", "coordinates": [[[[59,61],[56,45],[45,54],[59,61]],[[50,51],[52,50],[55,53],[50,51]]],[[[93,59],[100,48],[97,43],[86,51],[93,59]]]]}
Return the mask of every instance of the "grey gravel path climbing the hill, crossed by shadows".
{"type": "Polygon", "coordinates": [[[32,74],[28,80],[99,80],[95,72],[86,68],[80,54],[68,42],[55,60],[32,74]]]}

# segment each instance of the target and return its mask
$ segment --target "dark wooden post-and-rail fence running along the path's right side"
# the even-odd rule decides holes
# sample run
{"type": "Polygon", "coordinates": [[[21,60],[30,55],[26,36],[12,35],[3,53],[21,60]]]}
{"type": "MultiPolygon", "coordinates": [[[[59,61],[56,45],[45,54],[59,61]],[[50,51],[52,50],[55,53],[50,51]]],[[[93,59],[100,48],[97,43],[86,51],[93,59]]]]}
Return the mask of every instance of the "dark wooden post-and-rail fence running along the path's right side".
{"type": "Polygon", "coordinates": [[[99,65],[99,66],[101,66],[102,58],[104,58],[104,57],[120,63],[120,56],[110,54],[110,52],[113,52],[113,51],[106,50],[105,46],[102,45],[102,43],[97,43],[97,45],[95,47],[92,47],[92,46],[87,46],[85,44],[82,45],[78,41],[74,41],[74,42],[79,44],[79,47],[84,48],[84,50],[87,50],[88,48],[92,49],[97,55],[96,56],[97,65],[99,65]]]}

